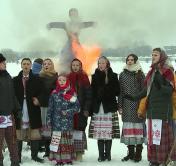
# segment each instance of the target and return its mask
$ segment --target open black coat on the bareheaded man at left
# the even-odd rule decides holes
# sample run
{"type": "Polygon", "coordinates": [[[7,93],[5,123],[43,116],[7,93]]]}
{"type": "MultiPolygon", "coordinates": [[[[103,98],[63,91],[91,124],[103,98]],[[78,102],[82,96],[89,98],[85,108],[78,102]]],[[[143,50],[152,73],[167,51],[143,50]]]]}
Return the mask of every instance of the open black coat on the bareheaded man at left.
{"type": "MultiPolygon", "coordinates": [[[[23,87],[23,73],[22,71],[18,76],[14,77],[14,88],[17,100],[23,108],[24,101],[24,87],[23,87]]],[[[38,129],[42,126],[41,110],[39,106],[33,104],[33,97],[38,97],[41,93],[41,82],[38,76],[34,76],[32,72],[29,73],[29,80],[26,82],[26,102],[29,114],[29,123],[31,129],[38,129]]],[[[21,110],[22,111],[22,110],[21,110]]],[[[21,128],[21,119],[15,117],[17,129],[21,128]]]]}

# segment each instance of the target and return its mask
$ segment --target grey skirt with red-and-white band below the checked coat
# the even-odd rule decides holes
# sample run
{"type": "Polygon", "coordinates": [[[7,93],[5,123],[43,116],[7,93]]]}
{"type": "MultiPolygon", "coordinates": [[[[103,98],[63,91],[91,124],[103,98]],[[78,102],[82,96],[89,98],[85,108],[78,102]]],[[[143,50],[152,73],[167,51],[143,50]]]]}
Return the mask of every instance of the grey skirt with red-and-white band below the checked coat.
{"type": "Polygon", "coordinates": [[[120,141],[125,145],[147,143],[145,123],[124,122],[120,141]]]}

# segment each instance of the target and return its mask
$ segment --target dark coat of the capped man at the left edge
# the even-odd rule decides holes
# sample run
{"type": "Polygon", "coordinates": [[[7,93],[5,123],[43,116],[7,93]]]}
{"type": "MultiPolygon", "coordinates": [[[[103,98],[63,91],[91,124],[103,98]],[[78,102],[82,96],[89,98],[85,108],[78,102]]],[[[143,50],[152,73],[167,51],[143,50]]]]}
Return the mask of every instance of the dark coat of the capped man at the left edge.
{"type": "Polygon", "coordinates": [[[16,114],[18,109],[12,78],[6,70],[0,70],[0,115],[16,114]]]}

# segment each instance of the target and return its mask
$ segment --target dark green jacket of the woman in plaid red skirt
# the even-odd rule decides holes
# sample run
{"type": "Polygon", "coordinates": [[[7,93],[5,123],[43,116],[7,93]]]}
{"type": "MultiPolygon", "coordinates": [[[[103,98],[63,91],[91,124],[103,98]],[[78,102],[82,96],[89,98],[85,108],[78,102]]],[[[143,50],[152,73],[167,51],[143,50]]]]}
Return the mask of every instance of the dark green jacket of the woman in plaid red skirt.
{"type": "Polygon", "coordinates": [[[172,92],[173,87],[159,72],[155,74],[154,81],[147,99],[148,119],[172,119],[172,92]],[[158,75],[158,76],[157,76],[158,75]],[[161,77],[161,88],[156,86],[156,77],[161,77]]]}

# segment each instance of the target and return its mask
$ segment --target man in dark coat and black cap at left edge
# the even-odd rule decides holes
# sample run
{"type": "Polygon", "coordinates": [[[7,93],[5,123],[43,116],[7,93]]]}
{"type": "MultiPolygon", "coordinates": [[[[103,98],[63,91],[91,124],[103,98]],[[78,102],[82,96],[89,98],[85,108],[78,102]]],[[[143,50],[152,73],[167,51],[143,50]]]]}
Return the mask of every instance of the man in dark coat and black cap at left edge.
{"type": "Polygon", "coordinates": [[[7,142],[11,166],[19,166],[13,114],[18,110],[13,81],[6,71],[6,58],[0,54],[0,166],[3,166],[2,147],[7,142]]]}

